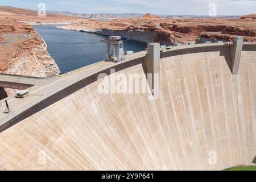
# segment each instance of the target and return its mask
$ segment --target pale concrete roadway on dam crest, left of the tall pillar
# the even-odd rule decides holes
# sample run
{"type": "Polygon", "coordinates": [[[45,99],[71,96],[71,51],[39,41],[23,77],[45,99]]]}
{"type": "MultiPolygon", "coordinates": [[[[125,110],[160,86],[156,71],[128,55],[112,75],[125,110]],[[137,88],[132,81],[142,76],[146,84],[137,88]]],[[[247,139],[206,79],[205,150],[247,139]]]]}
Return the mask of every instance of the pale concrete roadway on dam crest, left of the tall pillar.
{"type": "MultiPolygon", "coordinates": [[[[86,66],[84,68],[76,69],[75,71],[65,73],[64,75],[48,77],[48,78],[28,78],[24,76],[14,76],[14,75],[0,75],[0,80],[9,80],[13,84],[18,84],[18,82],[35,85],[29,88],[29,96],[26,98],[16,98],[14,96],[6,98],[11,113],[6,114],[5,101],[0,101],[0,132],[6,129],[6,123],[13,119],[24,111],[30,109],[30,107],[35,106],[46,98],[52,96],[53,94],[60,92],[61,90],[67,88],[68,86],[75,84],[76,82],[92,76],[105,69],[112,68],[119,64],[127,63],[131,60],[138,59],[139,57],[144,57],[146,51],[137,52],[133,55],[127,55],[125,61],[118,63],[100,61],[92,65],[86,66]],[[33,84],[32,84],[33,83],[33,84]],[[4,128],[2,128],[4,126],[4,128]]],[[[0,85],[1,85],[0,81],[0,85]]],[[[7,127],[10,127],[7,125],[7,127]]]]}

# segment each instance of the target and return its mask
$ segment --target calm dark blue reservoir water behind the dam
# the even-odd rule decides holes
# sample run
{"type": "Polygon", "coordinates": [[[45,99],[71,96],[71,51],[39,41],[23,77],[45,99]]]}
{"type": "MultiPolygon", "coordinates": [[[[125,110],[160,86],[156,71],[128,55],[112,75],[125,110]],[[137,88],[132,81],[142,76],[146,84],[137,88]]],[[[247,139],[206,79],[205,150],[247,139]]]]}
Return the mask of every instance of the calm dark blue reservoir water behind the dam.
{"type": "MultiPolygon", "coordinates": [[[[34,26],[47,43],[49,54],[60,68],[61,74],[105,59],[108,36],[57,29],[55,25],[34,26]]],[[[123,42],[125,51],[143,51],[147,44],[134,40],[123,42]]]]}

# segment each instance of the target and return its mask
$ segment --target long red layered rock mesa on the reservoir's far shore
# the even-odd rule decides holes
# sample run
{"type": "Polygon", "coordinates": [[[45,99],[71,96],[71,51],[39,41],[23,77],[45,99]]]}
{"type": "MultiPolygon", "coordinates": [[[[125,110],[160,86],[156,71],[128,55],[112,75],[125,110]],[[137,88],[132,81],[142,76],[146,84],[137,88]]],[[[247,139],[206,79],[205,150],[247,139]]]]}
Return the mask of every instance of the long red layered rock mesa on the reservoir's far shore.
{"type": "Polygon", "coordinates": [[[199,38],[233,40],[245,36],[245,41],[255,41],[256,20],[245,19],[161,19],[146,14],[142,18],[115,19],[109,21],[84,20],[82,23],[61,26],[64,30],[96,32],[104,35],[120,35],[142,42],[160,42],[166,45],[188,43],[199,38]]]}

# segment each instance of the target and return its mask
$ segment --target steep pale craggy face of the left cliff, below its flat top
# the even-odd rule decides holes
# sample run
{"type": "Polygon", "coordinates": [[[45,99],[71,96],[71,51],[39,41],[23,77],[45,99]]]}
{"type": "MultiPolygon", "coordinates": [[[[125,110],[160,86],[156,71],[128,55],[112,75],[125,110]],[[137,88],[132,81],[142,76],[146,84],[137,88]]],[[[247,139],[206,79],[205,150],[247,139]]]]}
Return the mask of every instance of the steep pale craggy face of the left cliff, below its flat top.
{"type": "Polygon", "coordinates": [[[47,45],[41,37],[15,44],[18,47],[11,54],[11,60],[5,73],[48,77],[59,75],[55,61],[47,52],[47,45]]]}

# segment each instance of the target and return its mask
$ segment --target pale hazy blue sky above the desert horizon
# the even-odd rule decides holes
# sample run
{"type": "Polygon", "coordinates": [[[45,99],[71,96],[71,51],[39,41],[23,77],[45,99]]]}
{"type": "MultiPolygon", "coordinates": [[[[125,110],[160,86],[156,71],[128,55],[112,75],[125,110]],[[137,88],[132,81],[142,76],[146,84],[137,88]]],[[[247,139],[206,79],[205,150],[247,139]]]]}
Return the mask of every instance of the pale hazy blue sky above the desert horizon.
{"type": "Polygon", "coordinates": [[[73,13],[152,13],[177,15],[208,15],[209,4],[216,3],[217,15],[245,15],[256,13],[256,0],[1,0],[0,5],[73,13]]]}

